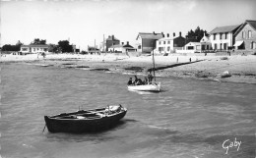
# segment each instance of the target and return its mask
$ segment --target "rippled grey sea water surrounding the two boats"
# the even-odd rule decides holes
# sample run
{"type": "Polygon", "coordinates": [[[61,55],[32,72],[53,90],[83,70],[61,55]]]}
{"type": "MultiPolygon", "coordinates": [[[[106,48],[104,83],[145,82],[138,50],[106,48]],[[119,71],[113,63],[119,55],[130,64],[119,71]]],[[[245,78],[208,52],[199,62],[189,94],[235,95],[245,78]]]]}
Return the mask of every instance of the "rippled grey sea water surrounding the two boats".
{"type": "Polygon", "coordinates": [[[1,156],[255,157],[255,84],[159,78],[160,93],[136,93],[127,90],[129,77],[1,64],[1,156]],[[44,115],[107,104],[128,108],[114,129],[90,134],[42,132],[44,115]]]}

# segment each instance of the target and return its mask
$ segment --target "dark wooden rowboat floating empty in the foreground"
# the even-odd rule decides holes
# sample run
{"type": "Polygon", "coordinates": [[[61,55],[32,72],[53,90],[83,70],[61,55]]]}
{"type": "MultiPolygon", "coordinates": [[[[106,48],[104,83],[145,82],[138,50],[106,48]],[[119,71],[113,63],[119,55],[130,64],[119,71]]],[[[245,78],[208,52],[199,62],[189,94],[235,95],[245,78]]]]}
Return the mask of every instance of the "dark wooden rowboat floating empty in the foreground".
{"type": "Polygon", "coordinates": [[[44,116],[44,121],[49,132],[100,132],[117,125],[126,112],[122,105],[108,105],[100,109],[44,116]]]}

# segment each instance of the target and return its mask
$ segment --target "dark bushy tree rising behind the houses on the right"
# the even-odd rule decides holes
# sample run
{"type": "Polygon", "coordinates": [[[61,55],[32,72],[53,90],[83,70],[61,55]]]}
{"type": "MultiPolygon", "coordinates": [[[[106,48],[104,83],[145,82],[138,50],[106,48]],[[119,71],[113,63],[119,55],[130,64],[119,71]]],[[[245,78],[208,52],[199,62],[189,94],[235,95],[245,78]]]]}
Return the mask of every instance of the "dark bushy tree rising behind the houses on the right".
{"type": "Polygon", "coordinates": [[[186,35],[186,43],[189,43],[189,42],[199,42],[204,34],[206,36],[208,36],[209,34],[207,33],[206,30],[204,29],[201,29],[199,26],[197,26],[197,28],[195,30],[190,30],[188,31],[187,35],[186,35]]]}

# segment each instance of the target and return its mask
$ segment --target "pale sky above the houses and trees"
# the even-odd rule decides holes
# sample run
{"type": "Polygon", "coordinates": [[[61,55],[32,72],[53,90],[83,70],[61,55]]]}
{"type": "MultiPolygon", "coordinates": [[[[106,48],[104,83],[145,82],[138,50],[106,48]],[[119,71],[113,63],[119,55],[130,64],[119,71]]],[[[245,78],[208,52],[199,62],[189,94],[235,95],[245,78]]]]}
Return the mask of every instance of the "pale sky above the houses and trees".
{"type": "Polygon", "coordinates": [[[256,21],[256,0],[1,0],[0,18],[1,46],[39,38],[87,50],[108,35],[134,46],[139,32],[185,36],[256,21]]]}

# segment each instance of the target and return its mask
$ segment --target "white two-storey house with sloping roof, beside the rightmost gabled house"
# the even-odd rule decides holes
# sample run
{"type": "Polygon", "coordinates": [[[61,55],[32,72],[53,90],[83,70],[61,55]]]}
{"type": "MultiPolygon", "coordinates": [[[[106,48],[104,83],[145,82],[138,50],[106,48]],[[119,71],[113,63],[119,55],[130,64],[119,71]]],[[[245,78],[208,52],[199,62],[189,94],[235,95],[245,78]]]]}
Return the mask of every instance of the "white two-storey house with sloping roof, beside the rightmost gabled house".
{"type": "Polygon", "coordinates": [[[210,32],[210,40],[214,50],[231,49],[234,44],[234,32],[239,26],[220,26],[210,32]]]}

